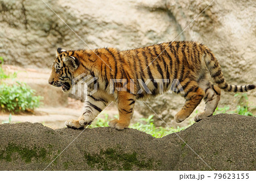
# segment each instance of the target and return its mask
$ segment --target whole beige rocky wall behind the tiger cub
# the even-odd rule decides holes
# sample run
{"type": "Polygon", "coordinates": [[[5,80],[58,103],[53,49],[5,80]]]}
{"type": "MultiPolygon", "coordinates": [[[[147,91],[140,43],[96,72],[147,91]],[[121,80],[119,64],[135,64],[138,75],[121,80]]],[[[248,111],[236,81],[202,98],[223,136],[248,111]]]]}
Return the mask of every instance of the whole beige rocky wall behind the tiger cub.
{"type": "MultiPolygon", "coordinates": [[[[255,0],[216,0],[193,22],[211,2],[0,0],[0,56],[6,64],[49,68],[57,47],[129,49],[172,41],[180,34],[176,40],[208,45],[228,82],[256,83],[255,0]]],[[[236,105],[233,94],[222,94],[220,106],[236,105]]],[[[249,98],[253,104],[255,91],[249,98]]],[[[147,103],[163,120],[172,120],[183,102],[180,96],[162,95],[147,103]]],[[[146,104],[138,104],[141,113],[152,114],[146,104]]]]}

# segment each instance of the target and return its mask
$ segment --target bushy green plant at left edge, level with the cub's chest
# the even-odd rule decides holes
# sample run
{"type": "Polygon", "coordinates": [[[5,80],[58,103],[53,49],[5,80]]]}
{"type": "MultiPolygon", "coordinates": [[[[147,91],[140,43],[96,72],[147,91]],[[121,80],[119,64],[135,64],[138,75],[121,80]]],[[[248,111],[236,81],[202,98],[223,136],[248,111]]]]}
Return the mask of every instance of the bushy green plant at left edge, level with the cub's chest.
{"type": "Polygon", "coordinates": [[[16,81],[13,85],[6,83],[0,85],[0,105],[3,111],[32,111],[39,107],[40,100],[42,96],[35,96],[35,90],[24,82],[16,81]]]}

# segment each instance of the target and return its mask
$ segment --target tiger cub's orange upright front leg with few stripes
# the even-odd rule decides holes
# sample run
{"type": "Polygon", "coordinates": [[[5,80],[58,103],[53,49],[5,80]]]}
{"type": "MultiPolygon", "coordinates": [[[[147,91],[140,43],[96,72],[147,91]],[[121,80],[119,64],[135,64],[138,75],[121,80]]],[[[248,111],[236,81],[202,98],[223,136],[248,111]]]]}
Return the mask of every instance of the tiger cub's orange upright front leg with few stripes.
{"type": "Polygon", "coordinates": [[[118,112],[119,119],[109,121],[109,126],[118,130],[129,127],[130,120],[133,117],[133,107],[135,96],[128,92],[119,92],[118,95],[118,112]]]}

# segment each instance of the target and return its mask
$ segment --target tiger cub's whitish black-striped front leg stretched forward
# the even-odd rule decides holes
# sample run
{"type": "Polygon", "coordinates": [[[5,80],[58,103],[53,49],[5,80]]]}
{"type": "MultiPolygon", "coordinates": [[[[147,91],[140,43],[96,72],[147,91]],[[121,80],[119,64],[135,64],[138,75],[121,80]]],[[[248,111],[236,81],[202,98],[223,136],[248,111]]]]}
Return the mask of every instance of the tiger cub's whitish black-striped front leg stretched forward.
{"type": "Polygon", "coordinates": [[[84,111],[78,120],[69,120],[65,125],[73,129],[84,129],[86,125],[92,124],[98,114],[108,105],[108,100],[96,95],[88,95],[84,104],[84,111]]]}

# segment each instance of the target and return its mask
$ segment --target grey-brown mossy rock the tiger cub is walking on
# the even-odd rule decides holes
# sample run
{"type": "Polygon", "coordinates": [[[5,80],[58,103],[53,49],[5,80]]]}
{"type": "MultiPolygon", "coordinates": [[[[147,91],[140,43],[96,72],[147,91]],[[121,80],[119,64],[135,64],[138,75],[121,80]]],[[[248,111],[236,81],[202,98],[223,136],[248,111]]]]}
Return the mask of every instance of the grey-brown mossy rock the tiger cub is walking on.
{"type": "Polygon", "coordinates": [[[0,170],[44,170],[55,158],[46,170],[255,170],[255,121],[220,114],[163,138],[136,129],[2,124],[0,170]]]}

